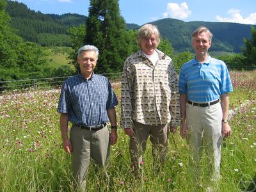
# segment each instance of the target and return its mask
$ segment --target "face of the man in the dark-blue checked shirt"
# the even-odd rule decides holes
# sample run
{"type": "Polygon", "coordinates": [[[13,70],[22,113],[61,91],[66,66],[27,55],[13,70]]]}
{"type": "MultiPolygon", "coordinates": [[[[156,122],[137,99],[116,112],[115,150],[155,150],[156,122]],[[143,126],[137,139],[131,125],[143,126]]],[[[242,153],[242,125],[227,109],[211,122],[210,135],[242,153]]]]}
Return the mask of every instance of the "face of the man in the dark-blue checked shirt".
{"type": "Polygon", "coordinates": [[[83,76],[91,76],[93,69],[97,64],[97,55],[94,51],[83,51],[77,58],[81,74],[83,76]]]}

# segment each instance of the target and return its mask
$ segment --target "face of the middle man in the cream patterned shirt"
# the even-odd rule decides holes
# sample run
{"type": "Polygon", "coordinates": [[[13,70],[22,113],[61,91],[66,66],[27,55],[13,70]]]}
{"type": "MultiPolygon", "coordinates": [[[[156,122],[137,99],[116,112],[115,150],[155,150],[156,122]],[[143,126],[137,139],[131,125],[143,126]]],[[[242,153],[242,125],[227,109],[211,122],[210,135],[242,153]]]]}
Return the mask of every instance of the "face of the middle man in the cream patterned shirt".
{"type": "Polygon", "coordinates": [[[156,35],[151,35],[150,37],[144,37],[140,40],[140,46],[145,54],[153,54],[157,47],[157,37],[156,35]]]}

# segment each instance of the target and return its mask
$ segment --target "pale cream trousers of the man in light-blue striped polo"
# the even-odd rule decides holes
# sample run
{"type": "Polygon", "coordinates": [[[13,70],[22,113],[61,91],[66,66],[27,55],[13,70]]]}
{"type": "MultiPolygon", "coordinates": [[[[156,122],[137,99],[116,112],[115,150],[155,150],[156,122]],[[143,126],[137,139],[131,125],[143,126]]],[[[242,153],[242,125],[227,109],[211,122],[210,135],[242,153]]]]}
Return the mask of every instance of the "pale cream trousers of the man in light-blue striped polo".
{"type": "Polygon", "coordinates": [[[221,120],[220,102],[209,107],[187,104],[186,124],[189,129],[189,144],[192,150],[192,166],[196,179],[200,179],[200,161],[205,149],[209,177],[216,181],[220,178],[221,159],[221,120]]]}

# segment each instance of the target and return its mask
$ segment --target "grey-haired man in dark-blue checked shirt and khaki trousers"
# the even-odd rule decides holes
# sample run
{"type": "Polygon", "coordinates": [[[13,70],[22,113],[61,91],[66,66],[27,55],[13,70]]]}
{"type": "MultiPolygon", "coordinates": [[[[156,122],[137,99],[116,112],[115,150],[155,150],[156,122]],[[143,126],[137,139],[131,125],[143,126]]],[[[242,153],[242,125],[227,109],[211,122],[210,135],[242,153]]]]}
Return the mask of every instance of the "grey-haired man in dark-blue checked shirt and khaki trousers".
{"type": "Polygon", "coordinates": [[[99,51],[93,45],[84,45],[78,50],[80,71],[63,83],[58,105],[63,148],[71,154],[72,173],[82,191],[85,190],[90,159],[105,167],[109,139],[111,144],[117,139],[115,106],[118,101],[108,79],[93,72],[98,55],[99,51]],[[72,122],[70,139],[68,121],[72,122]]]}

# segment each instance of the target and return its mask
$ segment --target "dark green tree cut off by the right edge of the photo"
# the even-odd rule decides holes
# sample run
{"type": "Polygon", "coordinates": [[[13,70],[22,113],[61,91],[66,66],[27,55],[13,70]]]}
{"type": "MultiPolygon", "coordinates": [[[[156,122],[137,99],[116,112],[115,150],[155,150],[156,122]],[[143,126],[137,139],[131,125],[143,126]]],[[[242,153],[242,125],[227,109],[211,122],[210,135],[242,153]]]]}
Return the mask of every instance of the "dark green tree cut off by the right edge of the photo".
{"type": "Polygon", "coordinates": [[[251,28],[252,39],[244,38],[245,47],[243,47],[243,55],[245,57],[244,64],[246,66],[256,66],[256,29],[251,28]]]}

